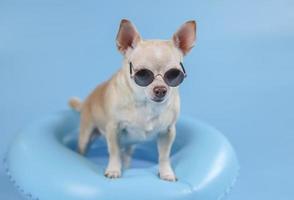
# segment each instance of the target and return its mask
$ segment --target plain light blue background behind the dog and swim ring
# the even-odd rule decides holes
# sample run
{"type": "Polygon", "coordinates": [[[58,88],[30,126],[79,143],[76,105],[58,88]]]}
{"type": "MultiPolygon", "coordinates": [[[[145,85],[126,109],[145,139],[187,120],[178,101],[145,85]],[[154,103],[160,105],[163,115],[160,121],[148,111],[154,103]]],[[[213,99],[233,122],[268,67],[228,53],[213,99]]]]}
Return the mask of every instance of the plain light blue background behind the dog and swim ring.
{"type": "MultiPolygon", "coordinates": [[[[229,199],[294,198],[294,1],[0,1],[0,156],[25,124],[121,66],[121,18],[144,38],[198,22],[182,114],[223,131],[241,176],[229,199]]],[[[0,167],[0,199],[20,199],[0,167]]]]}

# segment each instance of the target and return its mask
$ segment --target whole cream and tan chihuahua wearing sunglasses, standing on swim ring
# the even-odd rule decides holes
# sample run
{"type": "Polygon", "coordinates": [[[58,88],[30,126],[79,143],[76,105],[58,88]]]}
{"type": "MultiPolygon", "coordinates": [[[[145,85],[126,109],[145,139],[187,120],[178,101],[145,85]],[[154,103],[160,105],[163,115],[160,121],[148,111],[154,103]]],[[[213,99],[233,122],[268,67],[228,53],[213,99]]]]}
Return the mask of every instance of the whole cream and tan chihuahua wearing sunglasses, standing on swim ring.
{"type": "Polygon", "coordinates": [[[155,137],[159,177],[176,181],[169,157],[180,111],[178,86],[186,77],[183,57],[195,40],[195,21],[184,23],[171,40],[143,40],[135,26],[123,19],[116,37],[117,48],[124,56],[122,68],[85,101],[69,101],[81,112],[79,152],[86,152],[94,133],[106,138],[106,177],[120,177],[134,145],[155,137]]]}

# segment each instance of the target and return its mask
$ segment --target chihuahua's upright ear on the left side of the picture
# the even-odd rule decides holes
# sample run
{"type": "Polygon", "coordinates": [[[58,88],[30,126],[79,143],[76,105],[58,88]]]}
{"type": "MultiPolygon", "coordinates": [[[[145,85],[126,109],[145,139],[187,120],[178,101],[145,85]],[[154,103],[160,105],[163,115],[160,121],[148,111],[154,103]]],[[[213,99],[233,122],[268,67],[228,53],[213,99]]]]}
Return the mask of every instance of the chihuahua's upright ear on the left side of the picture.
{"type": "Polygon", "coordinates": [[[128,48],[135,48],[141,40],[135,26],[127,19],[122,19],[116,36],[118,50],[125,54],[128,48]]]}

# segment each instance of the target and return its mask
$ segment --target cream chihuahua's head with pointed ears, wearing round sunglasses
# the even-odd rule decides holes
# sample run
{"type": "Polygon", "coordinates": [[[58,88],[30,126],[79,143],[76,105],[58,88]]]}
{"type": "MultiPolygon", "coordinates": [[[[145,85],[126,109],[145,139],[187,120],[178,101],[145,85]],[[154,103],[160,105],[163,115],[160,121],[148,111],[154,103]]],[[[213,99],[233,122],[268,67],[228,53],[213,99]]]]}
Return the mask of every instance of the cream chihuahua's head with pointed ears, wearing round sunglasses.
{"type": "Polygon", "coordinates": [[[116,44],[124,55],[125,72],[128,73],[129,85],[135,91],[137,98],[156,103],[165,102],[178,86],[171,86],[166,78],[176,76],[175,73],[185,73],[181,63],[195,40],[195,21],[183,24],[171,40],[143,40],[135,26],[123,19],[116,44]],[[169,70],[172,73],[166,73],[169,70]],[[142,81],[144,78],[145,82],[142,81]],[[146,84],[146,81],[149,84],[146,84]]]}

